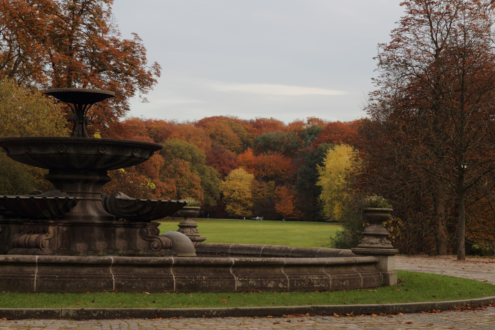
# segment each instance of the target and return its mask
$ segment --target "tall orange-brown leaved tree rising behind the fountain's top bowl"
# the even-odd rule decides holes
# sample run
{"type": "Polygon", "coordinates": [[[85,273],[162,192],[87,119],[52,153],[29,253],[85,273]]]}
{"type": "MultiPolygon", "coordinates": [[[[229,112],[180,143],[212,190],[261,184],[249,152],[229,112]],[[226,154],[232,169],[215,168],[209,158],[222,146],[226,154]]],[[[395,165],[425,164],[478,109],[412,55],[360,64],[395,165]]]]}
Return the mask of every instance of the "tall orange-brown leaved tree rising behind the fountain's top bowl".
{"type": "MultiPolygon", "coordinates": [[[[88,112],[93,131],[118,123],[129,98],[156,84],[137,34],[121,39],[112,0],[0,0],[0,75],[19,85],[96,88],[115,97],[88,112]]],[[[146,98],[143,98],[146,101],[146,98]]],[[[68,110],[68,108],[67,108],[68,110]]]]}

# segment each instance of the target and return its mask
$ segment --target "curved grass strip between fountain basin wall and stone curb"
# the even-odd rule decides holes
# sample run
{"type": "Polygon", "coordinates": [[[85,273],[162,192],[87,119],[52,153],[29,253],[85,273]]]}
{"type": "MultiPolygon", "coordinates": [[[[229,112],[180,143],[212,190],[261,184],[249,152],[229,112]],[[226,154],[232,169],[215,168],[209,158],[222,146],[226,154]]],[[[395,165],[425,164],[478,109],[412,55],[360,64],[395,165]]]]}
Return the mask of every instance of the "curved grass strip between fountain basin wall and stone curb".
{"type": "Polygon", "coordinates": [[[0,308],[210,308],[388,304],[473,299],[495,294],[495,285],[490,283],[420,272],[397,273],[400,283],[396,286],[320,292],[0,292],[0,308]]]}

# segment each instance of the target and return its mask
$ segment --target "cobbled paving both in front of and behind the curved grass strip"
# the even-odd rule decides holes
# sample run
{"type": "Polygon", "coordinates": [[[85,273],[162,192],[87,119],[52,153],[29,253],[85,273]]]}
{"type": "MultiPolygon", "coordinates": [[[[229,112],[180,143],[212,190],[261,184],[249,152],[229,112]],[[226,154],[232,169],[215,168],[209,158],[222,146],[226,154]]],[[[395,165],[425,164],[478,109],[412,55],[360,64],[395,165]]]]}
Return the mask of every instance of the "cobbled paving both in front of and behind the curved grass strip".
{"type": "MultiPolygon", "coordinates": [[[[495,284],[495,259],[396,257],[396,269],[464,277],[495,284]]],[[[479,311],[393,316],[211,318],[165,320],[0,320],[0,330],[494,330],[495,307],[479,311]]]]}

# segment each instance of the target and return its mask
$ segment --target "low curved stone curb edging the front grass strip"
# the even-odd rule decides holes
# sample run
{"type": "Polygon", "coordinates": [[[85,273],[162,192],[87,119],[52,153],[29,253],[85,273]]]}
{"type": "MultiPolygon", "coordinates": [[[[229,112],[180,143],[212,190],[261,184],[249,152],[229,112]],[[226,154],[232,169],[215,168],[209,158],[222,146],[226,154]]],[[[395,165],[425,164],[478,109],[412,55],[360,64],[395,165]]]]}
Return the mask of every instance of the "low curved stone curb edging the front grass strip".
{"type": "Polygon", "coordinates": [[[458,306],[480,306],[495,303],[495,296],[437,302],[412,302],[404,304],[375,305],[319,305],[319,306],[273,306],[273,307],[232,307],[232,308],[2,308],[0,319],[115,319],[115,318],[201,318],[282,316],[289,314],[333,315],[354,313],[418,313],[431,310],[447,310],[458,306]]]}

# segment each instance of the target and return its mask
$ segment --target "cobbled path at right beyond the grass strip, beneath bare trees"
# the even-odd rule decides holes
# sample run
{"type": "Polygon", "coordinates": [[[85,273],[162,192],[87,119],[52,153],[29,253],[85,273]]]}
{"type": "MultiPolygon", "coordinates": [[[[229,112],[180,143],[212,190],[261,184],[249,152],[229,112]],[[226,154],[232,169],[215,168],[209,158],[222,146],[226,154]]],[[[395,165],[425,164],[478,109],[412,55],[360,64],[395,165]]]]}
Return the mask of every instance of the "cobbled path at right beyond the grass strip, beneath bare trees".
{"type": "MultiPolygon", "coordinates": [[[[495,258],[395,257],[396,269],[463,277],[495,284],[495,258]]],[[[495,329],[495,325],[494,325],[495,329]]]]}

